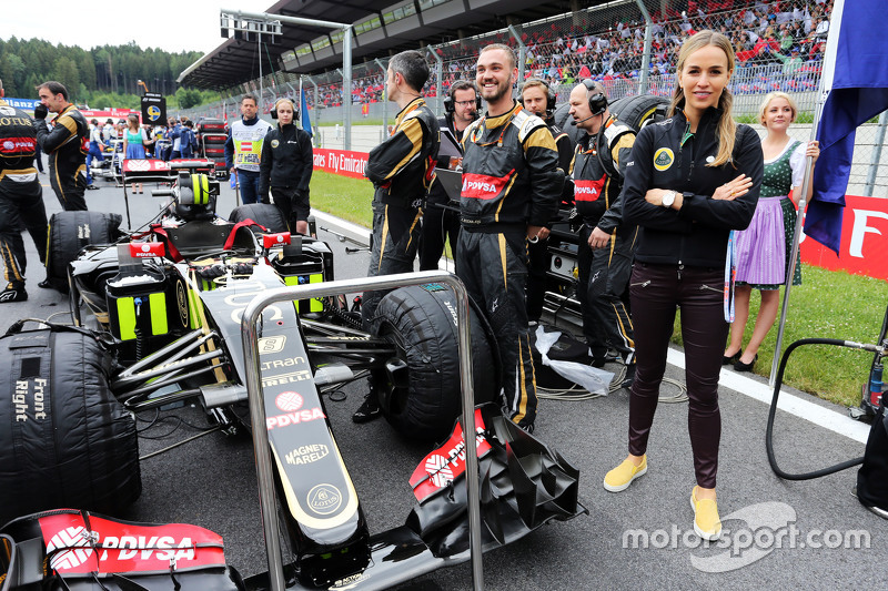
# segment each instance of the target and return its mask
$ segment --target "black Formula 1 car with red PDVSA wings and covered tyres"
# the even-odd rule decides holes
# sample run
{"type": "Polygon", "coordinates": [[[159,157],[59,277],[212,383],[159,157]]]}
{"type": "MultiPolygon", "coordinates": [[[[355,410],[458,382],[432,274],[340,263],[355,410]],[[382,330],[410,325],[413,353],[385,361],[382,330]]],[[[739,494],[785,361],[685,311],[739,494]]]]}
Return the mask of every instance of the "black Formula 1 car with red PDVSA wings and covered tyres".
{"type": "MultiPolygon", "coordinates": [[[[0,339],[0,359],[10,360],[0,373],[7,381],[0,393],[16,393],[11,404],[0,404],[0,424],[16,426],[0,435],[0,465],[11,467],[0,472],[0,518],[40,511],[0,528],[0,550],[18,548],[31,565],[30,579],[20,575],[2,591],[28,589],[38,571],[59,589],[73,589],[78,577],[89,589],[99,580],[104,587],[97,588],[140,589],[118,580],[137,571],[162,574],[141,588],[169,589],[176,569],[196,568],[189,560],[200,553],[190,554],[184,541],[176,559],[169,544],[157,543],[160,533],[154,542],[137,536],[122,549],[119,522],[101,518],[101,528],[90,524],[92,510],[113,516],[141,491],[132,414],[190,399],[220,430],[251,429],[244,386],[251,366],[240,346],[244,308],[268,289],[333,281],[330,247],[312,236],[291,236],[274,206],[245,205],[220,218],[218,181],[188,169],[170,190],[154,194],[171,197],[169,206],[148,230],[130,235],[118,236],[120,216],[57,214],[50,256],[78,253],[67,265],[74,325],[28,332],[19,323],[0,339]],[[79,511],[49,520],[58,512],[48,509],[64,506],[79,511]],[[147,571],[123,564],[134,549],[176,560],[169,573],[158,573],[154,563],[147,571]],[[33,569],[41,558],[48,568],[33,569]],[[92,561],[83,571],[87,558],[92,561]]],[[[496,398],[495,344],[478,316],[472,323],[475,401],[485,403],[496,398]]],[[[262,436],[273,458],[280,531],[295,557],[285,565],[286,588],[360,588],[371,578],[381,588],[468,560],[467,501],[460,486],[467,478],[465,442],[458,422],[451,431],[461,408],[453,378],[460,375],[456,329],[454,294],[436,283],[389,293],[370,332],[361,329],[343,297],[263,312],[262,436]],[[380,385],[383,412],[395,429],[444,440],[410,479],[417,502],[405,524],[373,536],[323,400],[331,385],[365,375],[380,385]]],[[[482,404],[475,425],[485,550],[585,511],[577,470],[507,420],[498,405],[482,404]]],[[[266,538],[278,530],[266,528],[266,538]]],[[[0,552],[0,573],[21,570],[13,553],[3,560],[0,552]]],[[[211,563],[219,567],[218,560],[211,563]]],[[[275,588],[268,573],[245,582],[228,571],[221,577],[219,589],[232,582],[238,589],[275,588]]]]}

